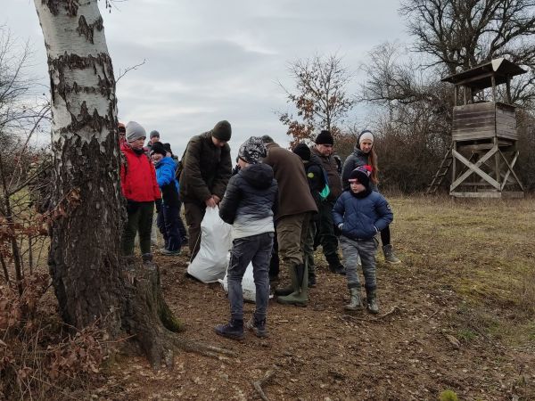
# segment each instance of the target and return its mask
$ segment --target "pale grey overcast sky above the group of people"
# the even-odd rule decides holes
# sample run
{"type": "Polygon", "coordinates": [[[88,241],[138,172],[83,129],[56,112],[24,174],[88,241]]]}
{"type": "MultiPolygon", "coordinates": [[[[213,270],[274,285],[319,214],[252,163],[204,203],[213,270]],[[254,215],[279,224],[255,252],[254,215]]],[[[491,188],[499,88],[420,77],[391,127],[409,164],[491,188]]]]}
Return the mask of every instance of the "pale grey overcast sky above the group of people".
{"type": "MultiPolygon", "coordinates": [[[[157,129],[181,155],[185,143],[218,120],[233,127],[231,147],[251,135],[288,143],[275,111],[287,110],[277,85],[292,87],[287,63],[337,53],[356,73],[366,53],[384,41],[407,42],[397,0],[129,0],[103,10],[116,77],[119,120],[157,129]]],[[[47,82],[43,35],[33,1],[0,0],[0,25],[29,40],[36,74],[47,82]],[[8,5],[9,4],[9,5],[8,5]]],[[[358,119],[358,110],[351,119],[358,119]]]]}

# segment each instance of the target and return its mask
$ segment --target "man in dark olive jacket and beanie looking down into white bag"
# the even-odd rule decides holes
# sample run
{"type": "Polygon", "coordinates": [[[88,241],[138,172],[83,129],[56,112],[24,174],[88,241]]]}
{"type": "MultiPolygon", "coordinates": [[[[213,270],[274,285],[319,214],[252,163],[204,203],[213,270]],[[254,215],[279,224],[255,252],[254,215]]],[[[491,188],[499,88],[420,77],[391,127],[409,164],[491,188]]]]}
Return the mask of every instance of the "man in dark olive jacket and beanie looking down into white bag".
{"type": "Polygon", "coordinates": [[[215,208],[223,198],[232,175],[228,141],[230,123],[219,121],[212,130],[190,139],[181,160],[180,199],[184,202],[191,259],[201,245],[201,222],[206,208],[215,208]]]}

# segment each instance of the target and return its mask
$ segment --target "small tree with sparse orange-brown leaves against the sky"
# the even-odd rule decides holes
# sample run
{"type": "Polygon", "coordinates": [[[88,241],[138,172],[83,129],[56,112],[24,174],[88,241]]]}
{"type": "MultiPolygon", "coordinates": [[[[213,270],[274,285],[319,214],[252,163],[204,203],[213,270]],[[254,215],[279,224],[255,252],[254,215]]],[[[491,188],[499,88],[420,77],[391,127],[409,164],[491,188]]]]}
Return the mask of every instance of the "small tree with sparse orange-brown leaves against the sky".
{"type": "Polygon", "coordinates": [[[291,62],[288,70],[295,90],[279,85],[286,93],[287,102],[297,110],[297,116],[284,112],[279,114],[279,119],[288,127],[292,143],[313,139],[318,129],[328,129],[333,135],[340,133],[343,119],[355,104],[346,92],[351,75],[342,66],[342,59],[336,54],[325,58],[316,55],[291,62]]]}

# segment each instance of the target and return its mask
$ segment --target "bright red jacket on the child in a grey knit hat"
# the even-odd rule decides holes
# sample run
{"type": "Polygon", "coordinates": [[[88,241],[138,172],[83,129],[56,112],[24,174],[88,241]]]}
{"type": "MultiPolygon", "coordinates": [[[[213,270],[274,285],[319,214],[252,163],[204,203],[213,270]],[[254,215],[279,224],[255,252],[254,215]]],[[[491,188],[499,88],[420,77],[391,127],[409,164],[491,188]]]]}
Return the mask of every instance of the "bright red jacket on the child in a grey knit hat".
{"type": "Polygon", "coordinates": [[[130,201],[150,202],[161,198],[156,171],[145,153],[137,154],[127,143],[120,145],[126,160],[120,165],[120,186],[130,201]]]}

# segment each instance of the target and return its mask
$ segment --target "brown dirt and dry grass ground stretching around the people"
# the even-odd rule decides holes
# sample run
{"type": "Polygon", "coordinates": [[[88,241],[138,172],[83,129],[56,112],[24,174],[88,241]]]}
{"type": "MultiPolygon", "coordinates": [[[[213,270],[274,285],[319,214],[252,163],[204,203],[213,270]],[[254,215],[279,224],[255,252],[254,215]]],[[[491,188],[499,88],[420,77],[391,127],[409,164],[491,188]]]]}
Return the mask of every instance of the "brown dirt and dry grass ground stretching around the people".
{"type": "Polygon", "coordinates": [[[236,357],[181,353],[173,370],[154,372],[119,353],[98,380],[58,397],[260,399],[253,383],[271,372],[270,400],[439,400],[446,390],[535,399],[535,200],[389,199],[403,263],[378,255],[380,315],[343,311],[345,277],[318,252],[309,307],[271,301],[268,339],[222,339],[213,332],[228,316],[220,285],[185,277],[186,257],[157,256],[169,306],[186,323],[180,335],[236,357]]]}

